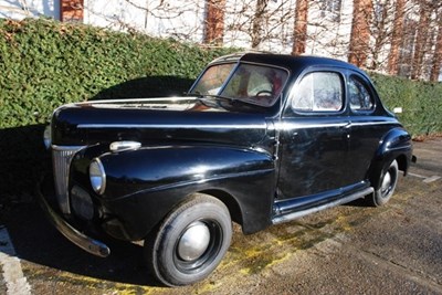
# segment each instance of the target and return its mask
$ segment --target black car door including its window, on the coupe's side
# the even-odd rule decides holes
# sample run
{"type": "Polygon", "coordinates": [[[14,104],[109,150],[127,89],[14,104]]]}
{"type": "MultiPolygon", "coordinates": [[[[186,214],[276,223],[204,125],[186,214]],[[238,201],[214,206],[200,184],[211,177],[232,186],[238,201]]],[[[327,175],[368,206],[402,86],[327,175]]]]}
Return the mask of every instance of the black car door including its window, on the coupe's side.
{"type": "Polygon", "coordinates": [[[344,75],[337,70],[303,74],[281,118],[280,199],[348,185],[348,127],[344,75]]]}

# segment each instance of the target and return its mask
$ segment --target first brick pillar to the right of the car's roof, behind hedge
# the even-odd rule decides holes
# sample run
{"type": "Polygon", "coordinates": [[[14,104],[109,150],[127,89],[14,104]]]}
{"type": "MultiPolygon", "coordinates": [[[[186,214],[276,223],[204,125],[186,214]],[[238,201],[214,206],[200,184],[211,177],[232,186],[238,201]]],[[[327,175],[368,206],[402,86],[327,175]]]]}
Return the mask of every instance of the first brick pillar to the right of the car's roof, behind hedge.
{"type": "Polygon", "coordinates": [[[397,75],[399,72],[399,59],[400,50],[403,40],[403,22],[404,22],[404,0],[397,0],[393,32],[391,36],[391,49],[388,57],[388,72],[392,75],[397,75]]]}

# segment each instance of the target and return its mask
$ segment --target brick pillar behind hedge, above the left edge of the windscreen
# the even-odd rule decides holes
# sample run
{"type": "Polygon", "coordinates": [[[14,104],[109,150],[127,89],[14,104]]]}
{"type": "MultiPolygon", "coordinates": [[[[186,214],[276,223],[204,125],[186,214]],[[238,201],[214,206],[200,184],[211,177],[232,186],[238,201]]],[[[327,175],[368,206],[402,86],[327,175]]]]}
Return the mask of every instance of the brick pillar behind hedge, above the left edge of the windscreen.
{"type": "Polygon", "coordinates": [[[207,0],[204,43],[222,45],[225,0],[207,0]]]}

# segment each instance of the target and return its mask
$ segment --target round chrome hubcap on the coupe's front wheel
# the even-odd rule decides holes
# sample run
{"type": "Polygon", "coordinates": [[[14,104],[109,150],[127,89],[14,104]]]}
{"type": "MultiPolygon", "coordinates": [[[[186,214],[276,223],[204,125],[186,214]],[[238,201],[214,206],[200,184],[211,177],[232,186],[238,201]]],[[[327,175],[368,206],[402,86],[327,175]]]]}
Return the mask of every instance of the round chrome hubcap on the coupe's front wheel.
{"type": "Polygon", "coordinates": [[[178,255],[185,261],[194,261],[204,254],[210,243],[210,231],[206,223],[191,223],[178,242],[178,255]]]}

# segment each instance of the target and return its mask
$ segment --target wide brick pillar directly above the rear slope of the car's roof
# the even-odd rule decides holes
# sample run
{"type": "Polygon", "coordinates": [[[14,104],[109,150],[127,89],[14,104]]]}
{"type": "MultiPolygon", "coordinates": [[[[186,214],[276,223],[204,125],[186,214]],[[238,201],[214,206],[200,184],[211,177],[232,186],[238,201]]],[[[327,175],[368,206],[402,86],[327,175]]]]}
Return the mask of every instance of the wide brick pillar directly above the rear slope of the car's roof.
{"type": "Polygon", "coordinates": [[[371,0],[355,0],[348,62],[365,66],[370,42],[371,0]]]}

